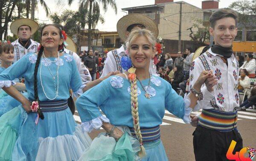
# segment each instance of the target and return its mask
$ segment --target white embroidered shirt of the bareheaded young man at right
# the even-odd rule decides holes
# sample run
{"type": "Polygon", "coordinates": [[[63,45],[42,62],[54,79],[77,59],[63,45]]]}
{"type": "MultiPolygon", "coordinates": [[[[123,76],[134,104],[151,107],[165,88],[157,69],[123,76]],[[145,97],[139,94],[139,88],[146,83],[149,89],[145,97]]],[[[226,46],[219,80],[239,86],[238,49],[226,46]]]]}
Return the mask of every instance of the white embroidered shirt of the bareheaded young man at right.
{"type": "Polygon", "coordinates": [[[190,67],[190,88],[194,85],[203,70],[211,70],[217,77],[218,83],[214,90],[209,92],[206,86],[201,87],[204,99],[198,101],[194,110],[218,109],[231,112],[239,106],[239,94],[237,90],[239,78],[239,63],[234,55],[227,59],[228,66],[221,59],[222,55],[215,54],[209,49],[196,58],[190,67]]]}

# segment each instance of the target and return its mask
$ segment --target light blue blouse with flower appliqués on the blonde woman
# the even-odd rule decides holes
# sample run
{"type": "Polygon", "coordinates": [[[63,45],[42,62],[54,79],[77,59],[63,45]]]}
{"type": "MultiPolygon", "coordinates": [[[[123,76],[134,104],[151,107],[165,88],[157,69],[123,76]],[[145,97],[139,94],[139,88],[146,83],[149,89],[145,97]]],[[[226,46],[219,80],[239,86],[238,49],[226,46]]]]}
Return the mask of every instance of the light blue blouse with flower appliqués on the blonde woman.
{"type": "MultiPolygon", "coordinates": [[[[148,81],[149,79],[141,81],[146,90],[148,81]]],[[[89,89],[77,99],[76,108],[81,121],[92,122],[96,118],[101,118],[102,120],[99,106],[111,124],[133,127],[130,91],[130,81],[122,77],[112,76],[102,81],[102,83],[89,89]]],[[[185,114],[183,98],[177,95],[171,84],[166,80],[151,76],[148,92],[151,95],[150,100],[145,98],[145,92],[140,82],[137,81],[138,111],[141,127],[154,127],[162,124],[165,109],[175,116],[183,118],[185,114]]]]}

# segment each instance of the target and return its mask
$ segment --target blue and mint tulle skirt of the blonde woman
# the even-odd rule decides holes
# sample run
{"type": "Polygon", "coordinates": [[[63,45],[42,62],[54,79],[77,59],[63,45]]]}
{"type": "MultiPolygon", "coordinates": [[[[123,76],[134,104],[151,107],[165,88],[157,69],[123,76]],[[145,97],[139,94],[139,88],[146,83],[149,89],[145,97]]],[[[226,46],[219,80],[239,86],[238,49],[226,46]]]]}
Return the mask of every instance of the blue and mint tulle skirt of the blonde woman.
{"type": "Polygon", "coordinates": [[[144,144],[146,156],[140,158],[140,143],[131,136],[126,126],[117,126],[124,135],[116,142],[113,137],[100,133],[84,151],[79,161],[168,161],[161,140],[144,144]]]}

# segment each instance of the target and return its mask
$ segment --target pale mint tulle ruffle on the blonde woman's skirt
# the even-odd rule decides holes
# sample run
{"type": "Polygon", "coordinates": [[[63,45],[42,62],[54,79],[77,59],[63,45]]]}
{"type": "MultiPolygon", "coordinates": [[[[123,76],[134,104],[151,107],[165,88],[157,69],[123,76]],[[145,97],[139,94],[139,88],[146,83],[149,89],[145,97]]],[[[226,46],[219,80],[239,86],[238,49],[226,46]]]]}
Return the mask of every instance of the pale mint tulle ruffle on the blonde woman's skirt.
{"type": "Polygon", "coordinates": [[[140,151],[140,143],[131,137],[129,129],[118,126],[124,131],[122,137],[116,142],[113,137],[100,133],[94,138],[90,147],[84,151],[79,161],[134,161],[140,160],[137,152],[140,151]]]}

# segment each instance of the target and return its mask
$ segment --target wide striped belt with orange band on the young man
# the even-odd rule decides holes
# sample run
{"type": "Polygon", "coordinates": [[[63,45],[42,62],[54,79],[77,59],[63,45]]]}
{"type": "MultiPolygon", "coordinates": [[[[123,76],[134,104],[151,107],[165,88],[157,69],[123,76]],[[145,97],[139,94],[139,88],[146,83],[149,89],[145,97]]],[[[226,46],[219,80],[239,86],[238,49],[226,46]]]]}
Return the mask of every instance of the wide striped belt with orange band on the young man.
{"type": "Polygon", "coordinates": [[[237,127],[237,111],[224,112],[216,109],[203,109],[198,125],[219,132],[229,132],[237,127]]]}

